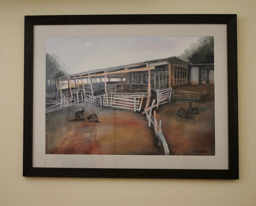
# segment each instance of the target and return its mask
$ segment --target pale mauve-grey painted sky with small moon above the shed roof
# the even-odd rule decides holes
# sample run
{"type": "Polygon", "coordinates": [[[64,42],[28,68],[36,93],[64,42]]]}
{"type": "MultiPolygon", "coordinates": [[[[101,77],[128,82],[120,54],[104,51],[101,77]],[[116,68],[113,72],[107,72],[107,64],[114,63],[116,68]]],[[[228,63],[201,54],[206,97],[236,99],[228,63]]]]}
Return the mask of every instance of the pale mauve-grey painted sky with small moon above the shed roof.
{"type": "Polygon", "coordinates": [[[179,56],[200,37],[54,37],[46,53],[69,74],[179,56]]]}

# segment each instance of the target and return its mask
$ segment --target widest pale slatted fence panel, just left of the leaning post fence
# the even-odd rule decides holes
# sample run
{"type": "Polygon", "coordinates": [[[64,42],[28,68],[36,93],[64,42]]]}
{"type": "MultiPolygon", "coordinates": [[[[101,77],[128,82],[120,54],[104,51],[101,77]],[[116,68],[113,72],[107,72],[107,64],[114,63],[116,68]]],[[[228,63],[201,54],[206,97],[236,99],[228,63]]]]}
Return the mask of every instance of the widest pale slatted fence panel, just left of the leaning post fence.
{"type": "Polygon", "coordinates": [[[140,111],[146,93],[109,93],[104,94],[104,106],[140,111]]]}

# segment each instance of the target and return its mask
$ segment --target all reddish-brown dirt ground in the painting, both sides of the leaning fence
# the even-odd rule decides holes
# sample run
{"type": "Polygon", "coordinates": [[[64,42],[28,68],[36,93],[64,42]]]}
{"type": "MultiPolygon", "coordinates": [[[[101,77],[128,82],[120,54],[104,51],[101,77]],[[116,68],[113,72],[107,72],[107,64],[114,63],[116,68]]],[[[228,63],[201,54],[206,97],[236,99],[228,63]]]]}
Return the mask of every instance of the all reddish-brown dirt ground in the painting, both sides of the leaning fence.
{"type": "MultiPolygon", "coordinates": [[[[188,108],[188,100],[175,100],[157,110],[170,154],[215,155],[214,85],[176,89],[206,90],[207,94],[201,102],[192,102],[201,113],[192,115],[193,119],[175,116],[179,108],[188,108]]],[[[157,146],[145,116],[126,110],[100,109],[85,102],[46,114],[46,153],[163,155],[164,151],[157,146]],[[84,120],[75,121],[75,113],[81,107],[85,107],[84,120]],[[97,114],[100,123],[89,122],[86,117],[90,114],[97,114]]]]}

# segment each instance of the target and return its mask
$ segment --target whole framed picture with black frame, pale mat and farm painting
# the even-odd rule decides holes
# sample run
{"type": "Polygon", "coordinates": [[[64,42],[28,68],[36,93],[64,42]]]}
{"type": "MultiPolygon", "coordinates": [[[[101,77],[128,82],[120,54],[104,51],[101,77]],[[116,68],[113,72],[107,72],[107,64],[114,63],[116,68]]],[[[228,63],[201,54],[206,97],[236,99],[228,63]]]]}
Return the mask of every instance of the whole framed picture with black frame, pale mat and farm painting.
{"type": "Polygon", "coordinates": [[[23,176],[238,179],[236,15],[25,16],[23,176]]]}

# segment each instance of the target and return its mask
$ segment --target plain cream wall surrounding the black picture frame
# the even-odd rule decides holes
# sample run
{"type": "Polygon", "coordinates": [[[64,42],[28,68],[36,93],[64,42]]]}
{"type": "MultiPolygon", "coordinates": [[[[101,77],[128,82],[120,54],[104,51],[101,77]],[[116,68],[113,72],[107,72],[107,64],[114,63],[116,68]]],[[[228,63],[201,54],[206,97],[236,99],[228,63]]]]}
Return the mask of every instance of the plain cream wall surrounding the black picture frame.
{"type": "Polygon", "coordinates": [[[255,0],[0,0],[1,206],[255,206],[255,0]],[[22,177],[24,15],[237,13],[240,180],[22,177]]]}

